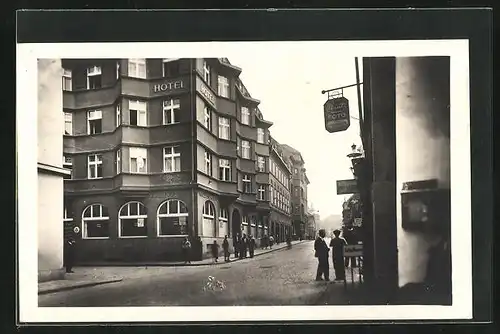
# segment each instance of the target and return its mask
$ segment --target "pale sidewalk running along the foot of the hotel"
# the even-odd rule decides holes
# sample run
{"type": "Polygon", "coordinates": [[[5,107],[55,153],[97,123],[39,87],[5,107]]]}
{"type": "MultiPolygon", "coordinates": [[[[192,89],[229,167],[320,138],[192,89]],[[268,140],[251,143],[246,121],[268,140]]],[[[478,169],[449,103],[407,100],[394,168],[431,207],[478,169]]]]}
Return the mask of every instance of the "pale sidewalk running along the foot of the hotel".
{"type": "MultiPolygon", "coordinates": [[[[294,241],[292,245],[296,245],[304,241],[294,241]]],[[[286,249],[286,243],[280,243],[279,245],[274,245],[272,249],[256,249],[254,257],[267,254],[270,252],[286,249]]],[[[224,259],[224,258],[223,258],[224,259]]],[[[251,258],[246,259],[235,259],[234,254],[231,255],[231,261],[229,263],[239,261],[239,260],[251,260],[251,258]]],[[[162,274],[162,267],[181,267],[181,266],[212,266],[227,264],[224,260],[217,263],[213,263],[212,259],[204,259],[202,261],[192,262],[191,264],[185,264],[184,262],[155,262],[155,263],[121,263],[109,265],[104,264],[102,266],[85,266],[76,268],[76,273],[66,274],[64,280],[48,281],[43,283],[38,283],[38,294],[48,294],[59,291],[73,290],[78,288],[96,286],[101,284],[117,283],[121,282],[126,278],[143,277],[147,271],[147,275],[162,274]],[[101,267],[101,268],[96,268],[101,267]],[[142,268],[141,268],[142,267],[142,268]],[[149,267],[149,268],[148,268],[149,267]],[[151,268],[152,267],[152,268],[151,268]],[[132,268],[132,270],[130,270],[132,268]]]]}

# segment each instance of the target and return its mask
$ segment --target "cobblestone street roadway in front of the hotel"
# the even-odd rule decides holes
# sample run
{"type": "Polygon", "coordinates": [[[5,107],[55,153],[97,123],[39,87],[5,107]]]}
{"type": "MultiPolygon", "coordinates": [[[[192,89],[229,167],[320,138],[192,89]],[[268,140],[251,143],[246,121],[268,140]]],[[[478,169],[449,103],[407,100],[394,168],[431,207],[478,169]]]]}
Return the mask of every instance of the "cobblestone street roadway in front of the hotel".
{"type": "Polygon", "coordinates": [[[124,279],[96,287],[39,296],[40,306],[314,305],[342,283],[314,281],[313,242],[253,259],[199,267],[113,268],[124,279]],[[224,289],[204,289],[208,277],[224,289]]]}

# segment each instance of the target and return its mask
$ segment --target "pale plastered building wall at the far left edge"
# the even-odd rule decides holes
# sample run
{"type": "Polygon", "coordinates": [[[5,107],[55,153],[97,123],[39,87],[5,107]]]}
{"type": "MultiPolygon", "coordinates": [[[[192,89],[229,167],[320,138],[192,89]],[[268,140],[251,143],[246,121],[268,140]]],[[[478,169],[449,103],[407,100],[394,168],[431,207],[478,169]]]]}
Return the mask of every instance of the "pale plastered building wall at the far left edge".
{"type": "Polygon", "coordinates": [[[38,60],[38,280],[64,277],[61,61],[38,60]]]}

